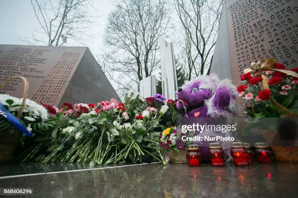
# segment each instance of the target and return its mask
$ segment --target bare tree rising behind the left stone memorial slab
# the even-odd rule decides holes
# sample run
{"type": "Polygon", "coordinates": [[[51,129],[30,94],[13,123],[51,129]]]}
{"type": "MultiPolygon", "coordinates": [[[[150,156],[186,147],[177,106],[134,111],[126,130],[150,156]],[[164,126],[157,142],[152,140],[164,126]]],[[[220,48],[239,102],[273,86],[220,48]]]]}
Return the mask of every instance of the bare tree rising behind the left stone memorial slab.
{"type": "Polygon", "coordinates": [[[31,0],[40,28],[27,40],[31,44],[62,46],[69,40],[83,45],[93,23],[88,16],[92,0],[31,0]]]}

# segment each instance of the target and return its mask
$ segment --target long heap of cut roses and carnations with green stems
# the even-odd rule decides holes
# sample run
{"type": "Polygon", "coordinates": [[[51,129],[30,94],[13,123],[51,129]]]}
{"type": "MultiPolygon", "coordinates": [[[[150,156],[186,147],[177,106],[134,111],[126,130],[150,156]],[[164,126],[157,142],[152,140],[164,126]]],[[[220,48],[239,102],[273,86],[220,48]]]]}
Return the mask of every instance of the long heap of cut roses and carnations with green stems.
{"type": "MultiPolygon", "coordinates": [[[[174,126],[180,115],[163,96],[148,102],[138,93],[97,104],[64,104],[50,112],[50,144],[35,141],[23,161],[42,163],[77,162],[95,164],[162,162],[166,164],[159,135],[168,123],[174,126]]],[[[46,106],[46,105],[44,105],[46,106]]]]}

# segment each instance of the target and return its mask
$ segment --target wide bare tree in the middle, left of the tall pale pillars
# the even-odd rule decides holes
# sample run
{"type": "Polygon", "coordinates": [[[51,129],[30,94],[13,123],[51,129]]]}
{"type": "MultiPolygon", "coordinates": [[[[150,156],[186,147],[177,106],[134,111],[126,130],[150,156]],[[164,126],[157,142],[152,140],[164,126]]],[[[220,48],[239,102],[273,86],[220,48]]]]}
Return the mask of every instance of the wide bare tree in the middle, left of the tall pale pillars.
{"type": "Polygon", "coordinates": [[[165,0],[116,1],[108,17],[104,60],[118,92],[125,93],[159,68],[159,39],[169,22],[165,6],[165,0]]]}

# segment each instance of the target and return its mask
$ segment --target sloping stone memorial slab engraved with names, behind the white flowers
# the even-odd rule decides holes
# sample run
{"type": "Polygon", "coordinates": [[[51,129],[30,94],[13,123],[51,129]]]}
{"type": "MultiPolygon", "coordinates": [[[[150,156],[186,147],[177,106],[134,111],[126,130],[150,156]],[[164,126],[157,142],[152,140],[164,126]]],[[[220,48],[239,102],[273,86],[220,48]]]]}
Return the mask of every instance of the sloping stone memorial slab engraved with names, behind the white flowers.
{"type": "MultiPolygon", "coordinates": [[[[0,45],[0,83],[17,75],[28,80],[28,98],[38,103],[120,101],[87,47],[0,45]]],[[[21,98],[23,84],[15,80],[0,93],[21,98]]]]}

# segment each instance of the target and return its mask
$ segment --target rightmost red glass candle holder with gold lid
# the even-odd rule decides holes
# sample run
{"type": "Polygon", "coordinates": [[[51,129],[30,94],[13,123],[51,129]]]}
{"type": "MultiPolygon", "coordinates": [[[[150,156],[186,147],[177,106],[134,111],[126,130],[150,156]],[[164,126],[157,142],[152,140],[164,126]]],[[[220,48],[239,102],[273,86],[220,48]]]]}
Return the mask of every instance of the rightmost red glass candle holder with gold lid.
{"type": "Polygon", "coordinates": [[[258,142],[255,143],[255,153],[260,164],[271,164],[273,153],[269,149],[267,143],[258,142]]]}

